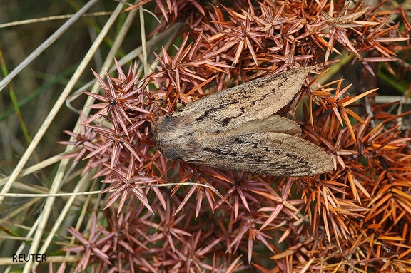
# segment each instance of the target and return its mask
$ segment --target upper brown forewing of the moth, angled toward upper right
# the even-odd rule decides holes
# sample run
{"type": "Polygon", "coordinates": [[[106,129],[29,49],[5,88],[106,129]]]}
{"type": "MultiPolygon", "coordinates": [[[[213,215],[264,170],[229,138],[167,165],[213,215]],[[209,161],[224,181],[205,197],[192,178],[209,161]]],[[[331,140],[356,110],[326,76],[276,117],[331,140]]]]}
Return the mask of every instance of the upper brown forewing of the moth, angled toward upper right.
{"type": "Polygon", "coordinates": [[[313,68],[258,78],[189,103],[173,114],[196,124],[196,130],[221,133],[253,120],[263,120],[283,108],[300,91],[313,68]]]}

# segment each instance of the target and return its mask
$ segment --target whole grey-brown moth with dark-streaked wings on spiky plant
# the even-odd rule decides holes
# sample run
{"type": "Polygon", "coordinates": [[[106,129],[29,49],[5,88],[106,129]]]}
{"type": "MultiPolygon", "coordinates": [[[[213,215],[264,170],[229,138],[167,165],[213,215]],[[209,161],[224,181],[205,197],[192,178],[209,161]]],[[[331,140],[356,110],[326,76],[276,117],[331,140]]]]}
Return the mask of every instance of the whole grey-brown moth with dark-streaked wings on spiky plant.
{"type": "Polygon", "coordinates": [[[309,176],[333,169],[324,150],[300,138],[300,126],[275,115],[313,68],[258,78],[189,103],[153,127],[167,158],[260,175],[309,176]]]}

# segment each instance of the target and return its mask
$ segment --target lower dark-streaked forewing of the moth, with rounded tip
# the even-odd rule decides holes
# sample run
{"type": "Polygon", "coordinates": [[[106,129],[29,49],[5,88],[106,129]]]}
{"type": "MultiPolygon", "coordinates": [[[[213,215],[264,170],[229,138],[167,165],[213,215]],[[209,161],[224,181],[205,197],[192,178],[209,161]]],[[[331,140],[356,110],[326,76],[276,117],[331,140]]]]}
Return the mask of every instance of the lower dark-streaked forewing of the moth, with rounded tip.
{"type": "Polygon", "coordinates": [[[196,165],[275,176],[310,176],[333,170],[324,150],[307,140],[268,132],[210,139],[182,158],[196,165]]]}

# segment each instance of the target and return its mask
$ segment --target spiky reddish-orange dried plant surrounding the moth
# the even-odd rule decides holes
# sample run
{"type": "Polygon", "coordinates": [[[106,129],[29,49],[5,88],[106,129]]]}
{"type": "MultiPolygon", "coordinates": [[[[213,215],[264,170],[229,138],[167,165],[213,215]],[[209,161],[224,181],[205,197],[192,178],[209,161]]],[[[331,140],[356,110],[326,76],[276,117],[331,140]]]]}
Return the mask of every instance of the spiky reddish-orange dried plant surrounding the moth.
{"type": "MultiPolygon", "coordinates": [[[[304,108],[295,118],[304,138],[333,158],[335,170],[315,177],[260,177],[167,160],[151,138],[161,115],[206,91],[293,66],[332,67],[345,53],[364,73],[377,75],[372,63],[394,72],[396,53],[410,48],[405,11],[391,12],[400,21],[394,24],[380,11],[383,3],[327,0],[146,0],[127,10],[148,2],[162,19],[153,34],[183,21],[175,53],[153,52],[158,66],[144,76],[136,63],[125,73],[117,61],[118,78],[94,72],[103,93],[85,93],[102,103],[91,106],[96,112],[83,118],[80,133],[66,132],[75,140],[65,144],[82,147],[69,156],[88,152],[83,173],[98,170],[94,177],[109,194],[103,220],[93,216],[88,235],[69,229],[77,245],[66,251],[82,256],[77,269],[410,271],[411,137],[402,120],[411,112],[377,105],[375,86],[352,96],[358,92],[342,79],[318,83],[321,73],[295,98],[290,107],[304,108]]],[[[402,67],[410,69],[405,59],[402,67]]]]}

